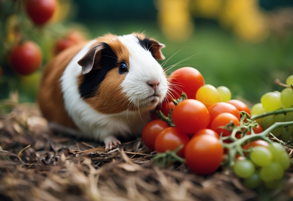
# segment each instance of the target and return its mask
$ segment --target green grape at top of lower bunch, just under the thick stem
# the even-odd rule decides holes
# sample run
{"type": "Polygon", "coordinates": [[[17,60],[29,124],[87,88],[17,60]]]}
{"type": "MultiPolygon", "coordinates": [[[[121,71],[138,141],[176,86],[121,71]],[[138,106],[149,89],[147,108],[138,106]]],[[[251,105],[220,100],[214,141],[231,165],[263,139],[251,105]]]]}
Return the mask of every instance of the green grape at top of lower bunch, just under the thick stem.
{"type": "Polygon", "coordinates": [[[253,148],[250,158],[255,165],[264,167],[270,165],[272,162],[272,153],[268,150],[268,148],[256,146],[253,148]]]}

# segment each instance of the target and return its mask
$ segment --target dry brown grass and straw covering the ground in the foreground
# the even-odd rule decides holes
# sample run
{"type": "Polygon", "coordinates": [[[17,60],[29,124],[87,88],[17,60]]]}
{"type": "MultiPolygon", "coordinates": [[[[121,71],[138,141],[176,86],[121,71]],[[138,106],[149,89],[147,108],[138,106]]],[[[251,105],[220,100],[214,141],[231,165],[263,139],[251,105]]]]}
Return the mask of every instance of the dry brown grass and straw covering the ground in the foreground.
{"type": "Polygon", "coordinates": [[[141,139],[104,146],[52,134],[35,105],[0,114],[0,200],[292,200],[293,177],[256,193],[229,171],[203,177],[185,165],[160,168],[141,139]]]}

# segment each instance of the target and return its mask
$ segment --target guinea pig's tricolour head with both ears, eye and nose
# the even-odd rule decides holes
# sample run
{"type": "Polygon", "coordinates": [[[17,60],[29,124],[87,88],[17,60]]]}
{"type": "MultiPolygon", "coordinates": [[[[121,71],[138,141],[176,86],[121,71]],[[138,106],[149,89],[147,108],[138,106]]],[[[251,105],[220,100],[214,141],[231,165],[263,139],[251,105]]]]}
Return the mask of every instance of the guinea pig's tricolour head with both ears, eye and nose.
{"type": "Polygon", "coordinates": [[[97,38],[78,62],[81,97],[105,114],[154,109],[168,90],[166,74],[156,61],[165,59],[164,47],[139,33],[97,38]]]}

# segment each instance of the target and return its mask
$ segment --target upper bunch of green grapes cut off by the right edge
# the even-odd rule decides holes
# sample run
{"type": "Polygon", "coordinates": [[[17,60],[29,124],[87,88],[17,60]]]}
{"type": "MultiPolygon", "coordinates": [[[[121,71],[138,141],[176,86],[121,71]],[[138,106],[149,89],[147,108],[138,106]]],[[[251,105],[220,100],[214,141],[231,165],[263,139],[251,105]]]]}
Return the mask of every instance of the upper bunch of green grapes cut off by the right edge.
{"type": "MultiPolygon", "coordinates": [[[[287,78],[286,84],[288,86],[293,85],[293,75],[290,75],[287,78]]],[[[282,92],[275,91],[264,94],[260,99],[260,103],[255,104],[251,108],[251,115],[258,115],[264,112],[271,112],[291,107],[293,107],[293,89],[287,87],[283,89],[282,92]]],[[[263,130],[265,130],[275,122],[293,121],[293,112],[289,112],[286,115],[270,115],[263,117],[262,119],[257,119],[256,121],[261,125],[263,130]]],[[[284,141],[292,141],[293,126],[277,128],[272,131],[272,134],[276,137],[282,138],[284,141]]]]}

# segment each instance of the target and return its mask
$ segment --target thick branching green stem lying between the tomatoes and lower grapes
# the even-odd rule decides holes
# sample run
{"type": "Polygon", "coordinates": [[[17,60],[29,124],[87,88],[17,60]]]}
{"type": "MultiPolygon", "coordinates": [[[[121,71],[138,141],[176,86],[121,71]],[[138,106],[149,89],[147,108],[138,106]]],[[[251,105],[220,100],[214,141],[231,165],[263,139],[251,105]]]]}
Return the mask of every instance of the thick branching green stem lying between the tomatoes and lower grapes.
{"type": "Polygon", "coordinates": [[[266,129],[265,131],[259,133],[259,134],[255,134],[253,131],[251,132],[251,135],[246,135],[243,136],[240,139],[237,139],[235,137],[236,133],[239,131],[239,127],[236,127],[233,129],[230,138],[234,140],[234,142],[232,143],[222,143],[223,148],[227,148],[229,149],[229,158],[227,161],[229,166],[233,166],[234,165],[234,161],[235,161],[235,155],[236,153],[239,153],[241,156],[244,156],[243,153],[243,148],[242,145],[244,143],[247,142],[251,142],[253,140],[257,140],[257,139],[262,139],[265,140],[269,143],[273,141],[277,141],[278,143],[281,143],[283,145],[286,145],[286,143],[284,143],[282,140],[279,140],[278,138],[276,138],[271,131],[273,131],[276,128],[279,127],[286,127],[286,126],[291,126],[293,125],[293,121],[288,121],[288,122],[276,122],[275,124],[273,124],[272,126],[270,126],[268,129],[266,129]],[[271,138],[269,138],[268,136],[270,136],[271,138]]]}

